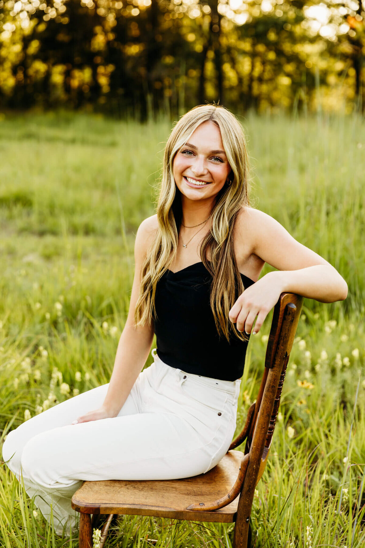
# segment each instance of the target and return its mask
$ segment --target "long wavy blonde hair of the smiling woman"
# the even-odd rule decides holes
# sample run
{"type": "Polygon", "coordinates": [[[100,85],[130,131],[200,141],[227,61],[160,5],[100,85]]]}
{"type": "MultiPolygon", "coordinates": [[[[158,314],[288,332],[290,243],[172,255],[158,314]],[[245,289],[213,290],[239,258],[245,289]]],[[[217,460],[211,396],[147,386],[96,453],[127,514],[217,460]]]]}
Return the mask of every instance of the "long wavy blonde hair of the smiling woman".
{"type": "Polygon", "coordinates": [[[212,208],[211,229],[202,240],[200,258],[213,280],[210,305],[219,337],[229,341],[230,330],[241,340],[247,337],[231,323],[228,313],[244,284],[234,255],[234,225],[242,206],[249,206],[249,166],[244,130],[236,117],[218,105],[200,105],[182,116],[172,129],[164,152],[163,175],[157,205],[158,230],[142,264],[140,294],[136,303],[135,323],[151,323],[157,317],[157,282],[176,258],[182,220],[181,193],[172,173],[173,159],[190,135],[203,122],[213,122],[221,130],[224,151],[231,167],[229,179],[218,192],[212,208]],[[207,260],[210,250],[211,261],[207,260]]]}

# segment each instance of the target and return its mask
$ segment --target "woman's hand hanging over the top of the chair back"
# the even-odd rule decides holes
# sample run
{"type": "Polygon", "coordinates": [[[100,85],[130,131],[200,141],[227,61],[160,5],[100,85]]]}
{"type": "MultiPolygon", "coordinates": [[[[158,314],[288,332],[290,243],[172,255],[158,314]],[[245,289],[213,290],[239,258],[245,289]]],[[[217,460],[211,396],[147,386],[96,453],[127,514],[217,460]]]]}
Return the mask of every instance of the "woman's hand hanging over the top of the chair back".
{"type": "Polygon", "coordinates": [[[239,296],[229,311],[230,321],[236,323],[239,332],[245,331],[250,334],[257,316],[253,331],[255,335],[282,292],[283,282],[280,271],[269,272],[239,296]]]}

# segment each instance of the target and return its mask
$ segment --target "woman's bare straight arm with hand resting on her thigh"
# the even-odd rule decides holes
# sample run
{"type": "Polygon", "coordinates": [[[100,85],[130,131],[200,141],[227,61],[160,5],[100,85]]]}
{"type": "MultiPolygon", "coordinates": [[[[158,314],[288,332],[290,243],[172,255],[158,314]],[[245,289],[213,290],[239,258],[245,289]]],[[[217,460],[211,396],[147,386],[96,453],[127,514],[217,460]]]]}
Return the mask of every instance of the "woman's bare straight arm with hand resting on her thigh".
{"type": "Polygon", "coordinates": [[[157,215],[148,217],[138,227],[135,241],[135,275],[129,312],[120,335],[108,391],[102,407],[78,417],[78,423],[117,416],[148,358],[154,336],[154,326],[152,323],[135,327],[134,312],[140,293],[142,264],[155,236],[156,227],[157,215]]]}

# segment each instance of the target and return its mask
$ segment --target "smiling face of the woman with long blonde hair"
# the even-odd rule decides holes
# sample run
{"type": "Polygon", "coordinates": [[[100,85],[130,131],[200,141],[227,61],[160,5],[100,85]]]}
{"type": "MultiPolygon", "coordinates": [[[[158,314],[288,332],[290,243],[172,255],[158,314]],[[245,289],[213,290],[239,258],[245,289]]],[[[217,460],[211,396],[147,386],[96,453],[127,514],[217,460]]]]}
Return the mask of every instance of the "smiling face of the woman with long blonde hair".
{"type": "Polygon", "coordinates": [[[172,164],[176,186],[191,200],[216,196],[230,171],[221,131],[213,122],[203,122],[195,129],[172,164]]]}

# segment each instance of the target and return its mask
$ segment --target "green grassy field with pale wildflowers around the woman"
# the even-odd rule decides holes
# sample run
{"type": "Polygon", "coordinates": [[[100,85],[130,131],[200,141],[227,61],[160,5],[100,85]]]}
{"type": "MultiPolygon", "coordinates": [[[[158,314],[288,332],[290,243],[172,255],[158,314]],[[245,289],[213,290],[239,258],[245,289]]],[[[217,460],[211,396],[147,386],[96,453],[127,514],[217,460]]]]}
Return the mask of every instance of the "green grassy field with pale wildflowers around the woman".
{"type": "MultiPolygon", "coordinates": [[[[254,498],[253,546],[360,548],[365,124],[253,115],[242,123],[251,205],[349,285],[345,301],[304,301],[254,498]]],[[[0,444],[30,416],[109,381],[128,312],[135,233],[155,212],[171,127],[67,113],[0,121],[0,444]]],[[[265,265],[262,276],[270,270],[265,265]]],[[[256,397],[270,320],[248,346],[237,430],[256,397]]],[[[78,545],[53,533],[5,465],[0,490],[0,546],[78,545]]],[[[147,548],[148,538],[158,547],[229,547],[233,524],[120,516],[106,546],[147,548]]]]}

